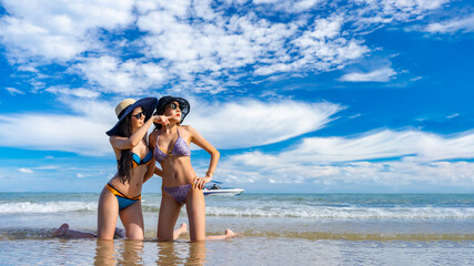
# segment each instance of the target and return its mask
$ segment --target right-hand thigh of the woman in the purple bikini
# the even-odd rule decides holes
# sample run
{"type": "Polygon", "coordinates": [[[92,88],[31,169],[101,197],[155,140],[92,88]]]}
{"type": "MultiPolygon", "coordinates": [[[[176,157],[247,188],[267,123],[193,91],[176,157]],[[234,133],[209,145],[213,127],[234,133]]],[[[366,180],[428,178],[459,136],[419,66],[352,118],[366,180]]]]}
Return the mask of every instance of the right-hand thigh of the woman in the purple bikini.
{"type": "Polygon", "coordinates": [[[205,241],[205,201],[202,190],[191,188],[186,198],[186,211],[191,241],[205,241]]]}

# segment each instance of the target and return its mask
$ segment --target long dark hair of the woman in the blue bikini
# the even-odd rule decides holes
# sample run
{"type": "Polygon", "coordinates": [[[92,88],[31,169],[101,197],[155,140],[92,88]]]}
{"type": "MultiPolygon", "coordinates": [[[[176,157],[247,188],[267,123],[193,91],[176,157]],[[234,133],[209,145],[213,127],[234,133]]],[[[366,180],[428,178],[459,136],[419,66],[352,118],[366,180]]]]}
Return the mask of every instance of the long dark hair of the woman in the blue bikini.
{"type": "MultiPolygon", "coordinates": [[[[118,129],[118,135],[123,137],[129,137],[132,135],[132,113],[127,115],[123,121],[120,123],[118,129]]],[[[119,175],[121,182],[125,184],[125,182],[130,182],[130,171],[132,170],[132,150],[122,150],[120,158],[117,163],[117,168],[119,171],[119,175]]]]}

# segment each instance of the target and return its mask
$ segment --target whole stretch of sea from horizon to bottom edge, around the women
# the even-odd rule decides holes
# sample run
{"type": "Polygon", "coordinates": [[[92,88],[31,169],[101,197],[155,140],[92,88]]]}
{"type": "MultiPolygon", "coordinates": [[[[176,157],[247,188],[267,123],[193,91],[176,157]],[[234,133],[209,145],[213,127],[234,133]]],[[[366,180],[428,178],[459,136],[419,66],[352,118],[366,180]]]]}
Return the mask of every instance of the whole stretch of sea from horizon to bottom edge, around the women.
{"type": "MultiPolygon", "coordinates": [[[[145,241],[54,238],[97,232],[99,194],[0,193],[0,265],[472,265],[474,194],[210,195],[208,235],[153,241],[160,194],[143,194],[145,241]]],[[[177,223],[188,223],[185,208],[177,223]]],[[[118,226],[121,227],[120,221],[118,226]]]]}

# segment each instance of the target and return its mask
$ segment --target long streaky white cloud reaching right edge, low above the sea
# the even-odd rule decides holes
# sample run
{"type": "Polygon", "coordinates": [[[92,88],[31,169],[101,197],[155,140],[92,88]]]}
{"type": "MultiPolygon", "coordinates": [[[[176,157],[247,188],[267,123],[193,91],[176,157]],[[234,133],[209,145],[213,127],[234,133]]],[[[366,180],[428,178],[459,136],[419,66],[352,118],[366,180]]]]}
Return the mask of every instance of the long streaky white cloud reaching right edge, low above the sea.
{"type": "Polygon", "coordinates": [[[420,161],[474,157],[474,134],[442,137],[418,131],[381,131],[359,137],[307,137],[294,150],[270,161],[294,163],[350,162],[415,156],[420,161]]]}

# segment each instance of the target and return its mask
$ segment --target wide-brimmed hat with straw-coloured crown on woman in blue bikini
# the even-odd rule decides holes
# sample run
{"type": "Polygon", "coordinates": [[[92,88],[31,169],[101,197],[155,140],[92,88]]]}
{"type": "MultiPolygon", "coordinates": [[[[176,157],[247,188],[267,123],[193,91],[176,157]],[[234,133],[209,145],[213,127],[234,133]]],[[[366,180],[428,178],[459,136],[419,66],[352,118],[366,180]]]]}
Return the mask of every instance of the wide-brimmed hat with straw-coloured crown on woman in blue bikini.
{"type": "Polygon", "coordinates": [[[157,108],[157,98],[143,98],[138,101],[133,99],[125,99],[121,101],[115,108],[115,114],[117,117],[119,117],[119,121],[110,131],[105,132],[105,134],[108,134],[109,136],[117,135],[117,131],[119,130],[120,123],[138,106],[141,106],[143,109],[145,114],[144,120],[149,120],[151,115],[153,115],[153,110],[157,108]]]}

